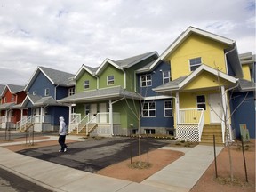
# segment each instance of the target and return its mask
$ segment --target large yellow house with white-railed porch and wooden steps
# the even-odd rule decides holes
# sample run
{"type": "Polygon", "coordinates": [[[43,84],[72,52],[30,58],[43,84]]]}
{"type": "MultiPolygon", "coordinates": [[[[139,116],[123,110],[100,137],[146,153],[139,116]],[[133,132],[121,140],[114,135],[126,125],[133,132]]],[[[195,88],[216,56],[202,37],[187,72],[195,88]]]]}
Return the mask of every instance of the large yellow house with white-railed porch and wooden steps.
{"type": "Polygon", "coordinates": [[[212,142],[213,132],[224,142],[225,130],[230,139],[228,92],[243,77],[236,42],[189,27],[160,59],[170,62],[172,81],[154,91],[173,98],[177,139],[212,142]]]}

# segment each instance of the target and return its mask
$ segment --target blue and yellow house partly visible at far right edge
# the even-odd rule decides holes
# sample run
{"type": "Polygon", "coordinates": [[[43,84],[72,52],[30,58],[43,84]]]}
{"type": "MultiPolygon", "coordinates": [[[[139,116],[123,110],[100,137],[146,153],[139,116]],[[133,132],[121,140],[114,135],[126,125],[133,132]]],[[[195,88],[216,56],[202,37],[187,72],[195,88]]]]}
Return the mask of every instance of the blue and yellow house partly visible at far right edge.
{"type": "Polygon", "coordinates": [[[246,125],[250,138],[255,138],[255,55],[247,52],[239,55],[244,78],[231,95],[232,128],[240,139],[240,126],[246,125]]]}

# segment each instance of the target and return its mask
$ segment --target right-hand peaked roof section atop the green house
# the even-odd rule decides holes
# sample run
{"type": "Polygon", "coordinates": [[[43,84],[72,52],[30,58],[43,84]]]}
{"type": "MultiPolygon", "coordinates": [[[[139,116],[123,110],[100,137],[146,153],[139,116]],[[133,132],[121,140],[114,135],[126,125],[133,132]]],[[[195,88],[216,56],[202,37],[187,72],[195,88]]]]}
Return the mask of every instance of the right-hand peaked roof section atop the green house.
{"type": "Polygon", "coordinates": [[[124,69],[124,68],[131,68],[133,65],[139,63],[142,60],[146,60],[147,58],[156,55],[158,57],[157,52],[146,52],[144,54],[140,54],[137,56],[133,56],[130,58],[126,58],[124,60],[110,60],[106,59],[103,61],[103,63],[100,65],[100,68],[97,69],[96,75],[100,75],[100,73],[108,66],[108,64],[113,65],[115,68],[118,69],[124,69]]]}

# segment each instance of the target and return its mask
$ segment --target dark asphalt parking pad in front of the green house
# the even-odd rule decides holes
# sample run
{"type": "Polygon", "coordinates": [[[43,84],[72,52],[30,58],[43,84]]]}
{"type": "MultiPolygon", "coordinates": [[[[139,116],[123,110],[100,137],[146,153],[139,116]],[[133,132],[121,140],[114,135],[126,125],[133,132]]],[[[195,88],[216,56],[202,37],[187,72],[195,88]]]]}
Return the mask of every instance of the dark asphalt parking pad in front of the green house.
{"type": "MultiPolygon", "coordinates": [[[[141,154],[169,143],[168,140],[141,139],[141,154]]],[[[49,146],[21,150],[19,153],[85,172],[97,172],[111,164],[129,159],[131,153],[132,156],[139,154],[138,139],[122,137],[70,143],[66,153],[59,153],[59,149],[59,146],[49,146]]]]}

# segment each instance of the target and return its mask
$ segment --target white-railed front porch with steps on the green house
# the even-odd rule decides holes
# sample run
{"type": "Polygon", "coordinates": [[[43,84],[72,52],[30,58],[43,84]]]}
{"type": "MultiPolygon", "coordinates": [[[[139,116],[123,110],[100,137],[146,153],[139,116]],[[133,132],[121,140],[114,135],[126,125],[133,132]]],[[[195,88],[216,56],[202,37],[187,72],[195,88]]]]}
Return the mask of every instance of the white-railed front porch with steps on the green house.
{"type": "Polygon", "coordinates": [[[120,114],[102,112],[88,113],[81,119],[81,114],[72,114],[68,132],[84,136],[112,136],[114,127],[120,126],[120,114]]]}

